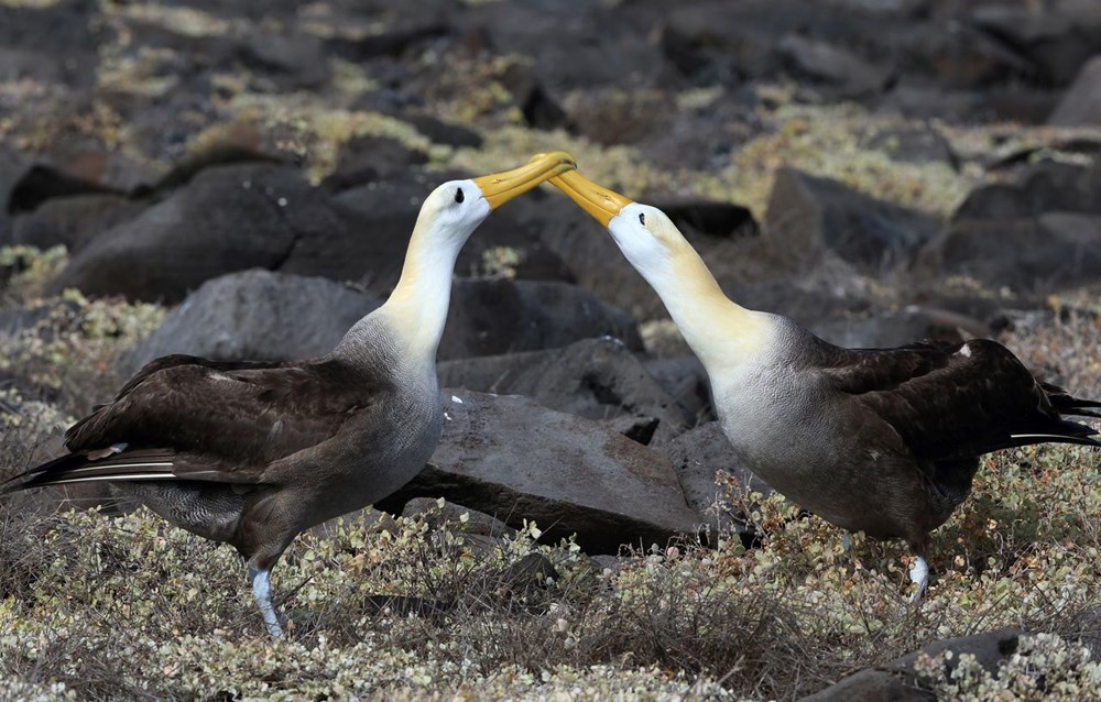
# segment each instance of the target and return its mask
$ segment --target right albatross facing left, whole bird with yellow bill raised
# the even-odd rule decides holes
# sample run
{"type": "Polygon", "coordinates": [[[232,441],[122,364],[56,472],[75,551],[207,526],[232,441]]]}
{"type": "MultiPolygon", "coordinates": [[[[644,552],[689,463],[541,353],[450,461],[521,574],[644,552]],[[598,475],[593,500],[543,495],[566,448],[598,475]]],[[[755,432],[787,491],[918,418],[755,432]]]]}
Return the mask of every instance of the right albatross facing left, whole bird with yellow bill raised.
{"type": "Polygon", "coordinates": [[[1101,447],[1065,416],[1101,403],[1037,380],[988,339],[846,349],[795,321],[746,309],[659,209],[577,173],[550,182],[611,233],[707,371],[738,459],[827,522],[903,538],[919,601],[928,535],[967,498],[979,457],[1058,442],[1101,447]]]}

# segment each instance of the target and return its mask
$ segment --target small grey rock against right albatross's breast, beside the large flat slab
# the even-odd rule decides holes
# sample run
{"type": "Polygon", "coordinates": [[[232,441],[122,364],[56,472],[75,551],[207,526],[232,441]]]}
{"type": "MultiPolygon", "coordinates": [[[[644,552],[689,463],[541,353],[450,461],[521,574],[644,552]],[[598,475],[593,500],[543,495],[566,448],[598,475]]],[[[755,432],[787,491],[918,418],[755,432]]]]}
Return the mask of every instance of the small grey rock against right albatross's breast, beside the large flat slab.
{"type": "Polygon", "coordinates": [[[718,421],[686,431],[661,450],[677,473],[688,506],[715,533],[741,530],[744,524],[741,513],[727,498],[726,489],[716,481],[716,473],[730,473],[746,491],[773,493],[767,483],[741,464],[718,421]]]}

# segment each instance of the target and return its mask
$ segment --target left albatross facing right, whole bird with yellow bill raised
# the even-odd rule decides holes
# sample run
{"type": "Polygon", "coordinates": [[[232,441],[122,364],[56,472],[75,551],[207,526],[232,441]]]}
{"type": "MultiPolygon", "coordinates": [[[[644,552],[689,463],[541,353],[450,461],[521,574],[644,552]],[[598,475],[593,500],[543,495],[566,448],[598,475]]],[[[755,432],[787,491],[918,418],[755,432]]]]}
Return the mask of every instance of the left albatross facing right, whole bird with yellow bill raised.
{"type": "Polygon", "coordinates": [[[555,152],[440,185],[421,208],[390,298],[328,355],[154,360],[66,431],[68,453],[3,491],[119,483],[170,523],[232,545],[269,633],[282,636],[270,577],[287,546],[404,485],[439,442],[436,349],[459,250],[493,209],[573,167],[555,152]]]}

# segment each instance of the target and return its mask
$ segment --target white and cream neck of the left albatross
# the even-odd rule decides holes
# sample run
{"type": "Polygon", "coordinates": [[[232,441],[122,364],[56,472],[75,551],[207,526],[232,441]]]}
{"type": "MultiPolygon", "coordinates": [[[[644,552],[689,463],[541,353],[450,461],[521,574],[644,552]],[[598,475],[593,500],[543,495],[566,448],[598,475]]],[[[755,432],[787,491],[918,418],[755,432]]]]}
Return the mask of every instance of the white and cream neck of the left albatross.
{"type": "Polygon", "coordinates": [[[357,322],[336,352],[355,352],[357,338],[381,322],[394,334],[396,350],[403,358],[435,364],[451,298],[455,261],[465,240],[418,220],[410,238],[401,278],[390,299],[357,322]]]}

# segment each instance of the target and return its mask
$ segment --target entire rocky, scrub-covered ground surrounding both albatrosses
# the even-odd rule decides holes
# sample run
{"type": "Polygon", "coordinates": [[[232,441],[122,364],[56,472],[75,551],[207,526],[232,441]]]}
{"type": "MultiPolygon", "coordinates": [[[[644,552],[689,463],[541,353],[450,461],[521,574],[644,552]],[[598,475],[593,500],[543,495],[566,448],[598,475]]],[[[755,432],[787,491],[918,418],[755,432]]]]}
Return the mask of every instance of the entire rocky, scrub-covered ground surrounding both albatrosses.
{"type": "MultiPolygon", "coordinates": [[[[1101,397],[1092,0],[0,0],[0,476],[157,355],[326,352],[436,184],[552,149],[746,306],[995,338],[1101,397]]],[[[732,463],[550,188],[471,238],[440,361],[432,463],[276,570],[286,641],[230,549],[99,490],[3,500],[0,696],[1099,696],[1097,453],[985,460],[909,607],[901,545],[847,556],[732,463]]]]}

